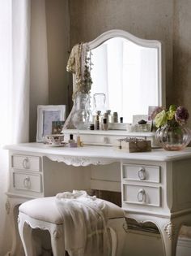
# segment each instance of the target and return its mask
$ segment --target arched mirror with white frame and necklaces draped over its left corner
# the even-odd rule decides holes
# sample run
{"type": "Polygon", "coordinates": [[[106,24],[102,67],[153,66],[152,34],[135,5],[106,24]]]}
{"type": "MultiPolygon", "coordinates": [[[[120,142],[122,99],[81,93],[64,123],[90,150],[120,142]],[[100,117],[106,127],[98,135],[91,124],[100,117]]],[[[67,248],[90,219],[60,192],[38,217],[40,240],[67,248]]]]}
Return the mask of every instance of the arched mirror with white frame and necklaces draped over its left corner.
{"type": "MultiPolygon", "coordinates": [[[[149,106],[165,106],[163,59],[160,41],[114,29],[74,46],[67,67],[74,73],[74,95],[84,89],[90,95],[91,113],[110,110],[132,123],[133,116],[148,115],[149,106]]],[[[74,108],[65,128],[72,124],[74,108]]]]}

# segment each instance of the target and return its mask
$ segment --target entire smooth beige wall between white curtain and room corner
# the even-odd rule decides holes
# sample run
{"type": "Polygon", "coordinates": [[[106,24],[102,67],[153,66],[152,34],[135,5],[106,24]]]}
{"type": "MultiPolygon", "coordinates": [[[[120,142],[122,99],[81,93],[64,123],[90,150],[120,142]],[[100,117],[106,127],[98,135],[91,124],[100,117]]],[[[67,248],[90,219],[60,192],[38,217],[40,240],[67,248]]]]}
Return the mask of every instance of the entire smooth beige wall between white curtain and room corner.
{"type": "Polygon", "coordinates": [[[36,141],[37,105],[68,105],[67,0],[31,2],[30,141],[36,141]]]}

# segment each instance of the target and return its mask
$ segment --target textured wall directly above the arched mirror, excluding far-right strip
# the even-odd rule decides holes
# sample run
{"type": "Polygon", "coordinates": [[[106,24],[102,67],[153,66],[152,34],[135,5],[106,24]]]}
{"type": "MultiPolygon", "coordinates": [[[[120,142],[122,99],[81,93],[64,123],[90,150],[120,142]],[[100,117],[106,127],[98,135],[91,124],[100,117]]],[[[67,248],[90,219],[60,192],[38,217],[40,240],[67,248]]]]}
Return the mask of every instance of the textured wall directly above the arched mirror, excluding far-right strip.
{"type": "MultiPolygon", "coordinates": [[[[70,1],[70,47],[113,28],[164,42],[167,84],[172,85],[173,0],[70,1]]],[[[169,93],[167,93],[168,97],[169,93]]]]}

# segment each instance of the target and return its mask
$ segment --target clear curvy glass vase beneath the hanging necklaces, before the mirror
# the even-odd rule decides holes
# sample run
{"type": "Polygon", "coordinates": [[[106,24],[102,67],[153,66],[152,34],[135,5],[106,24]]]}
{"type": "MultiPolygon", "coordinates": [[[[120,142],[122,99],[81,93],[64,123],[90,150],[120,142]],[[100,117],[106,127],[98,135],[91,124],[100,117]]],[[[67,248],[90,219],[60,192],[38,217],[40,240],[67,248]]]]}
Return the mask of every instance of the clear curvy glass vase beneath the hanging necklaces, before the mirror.
{"type": "Polygon", "coordinates": [[[90,96],[87,93],[77,93],[74,98],[72,123],[79,130],[89,128],[91,121],[90,96]]]}

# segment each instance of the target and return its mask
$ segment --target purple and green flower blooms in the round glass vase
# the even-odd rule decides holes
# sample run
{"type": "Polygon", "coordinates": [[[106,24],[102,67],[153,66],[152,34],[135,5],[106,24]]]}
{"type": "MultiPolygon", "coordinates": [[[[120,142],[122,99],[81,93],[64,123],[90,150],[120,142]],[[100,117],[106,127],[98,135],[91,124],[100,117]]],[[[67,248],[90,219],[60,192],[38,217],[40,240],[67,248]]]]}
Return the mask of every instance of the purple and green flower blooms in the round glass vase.
{"type": "Polygon", "coordinates": [[[156,128],[165,124],[171,126],[184,125],[189,119],[189,112],[185,106],[171,105],[168,110],[158,106],[151,114],[151,119],[154,120],[156,128]]]}

